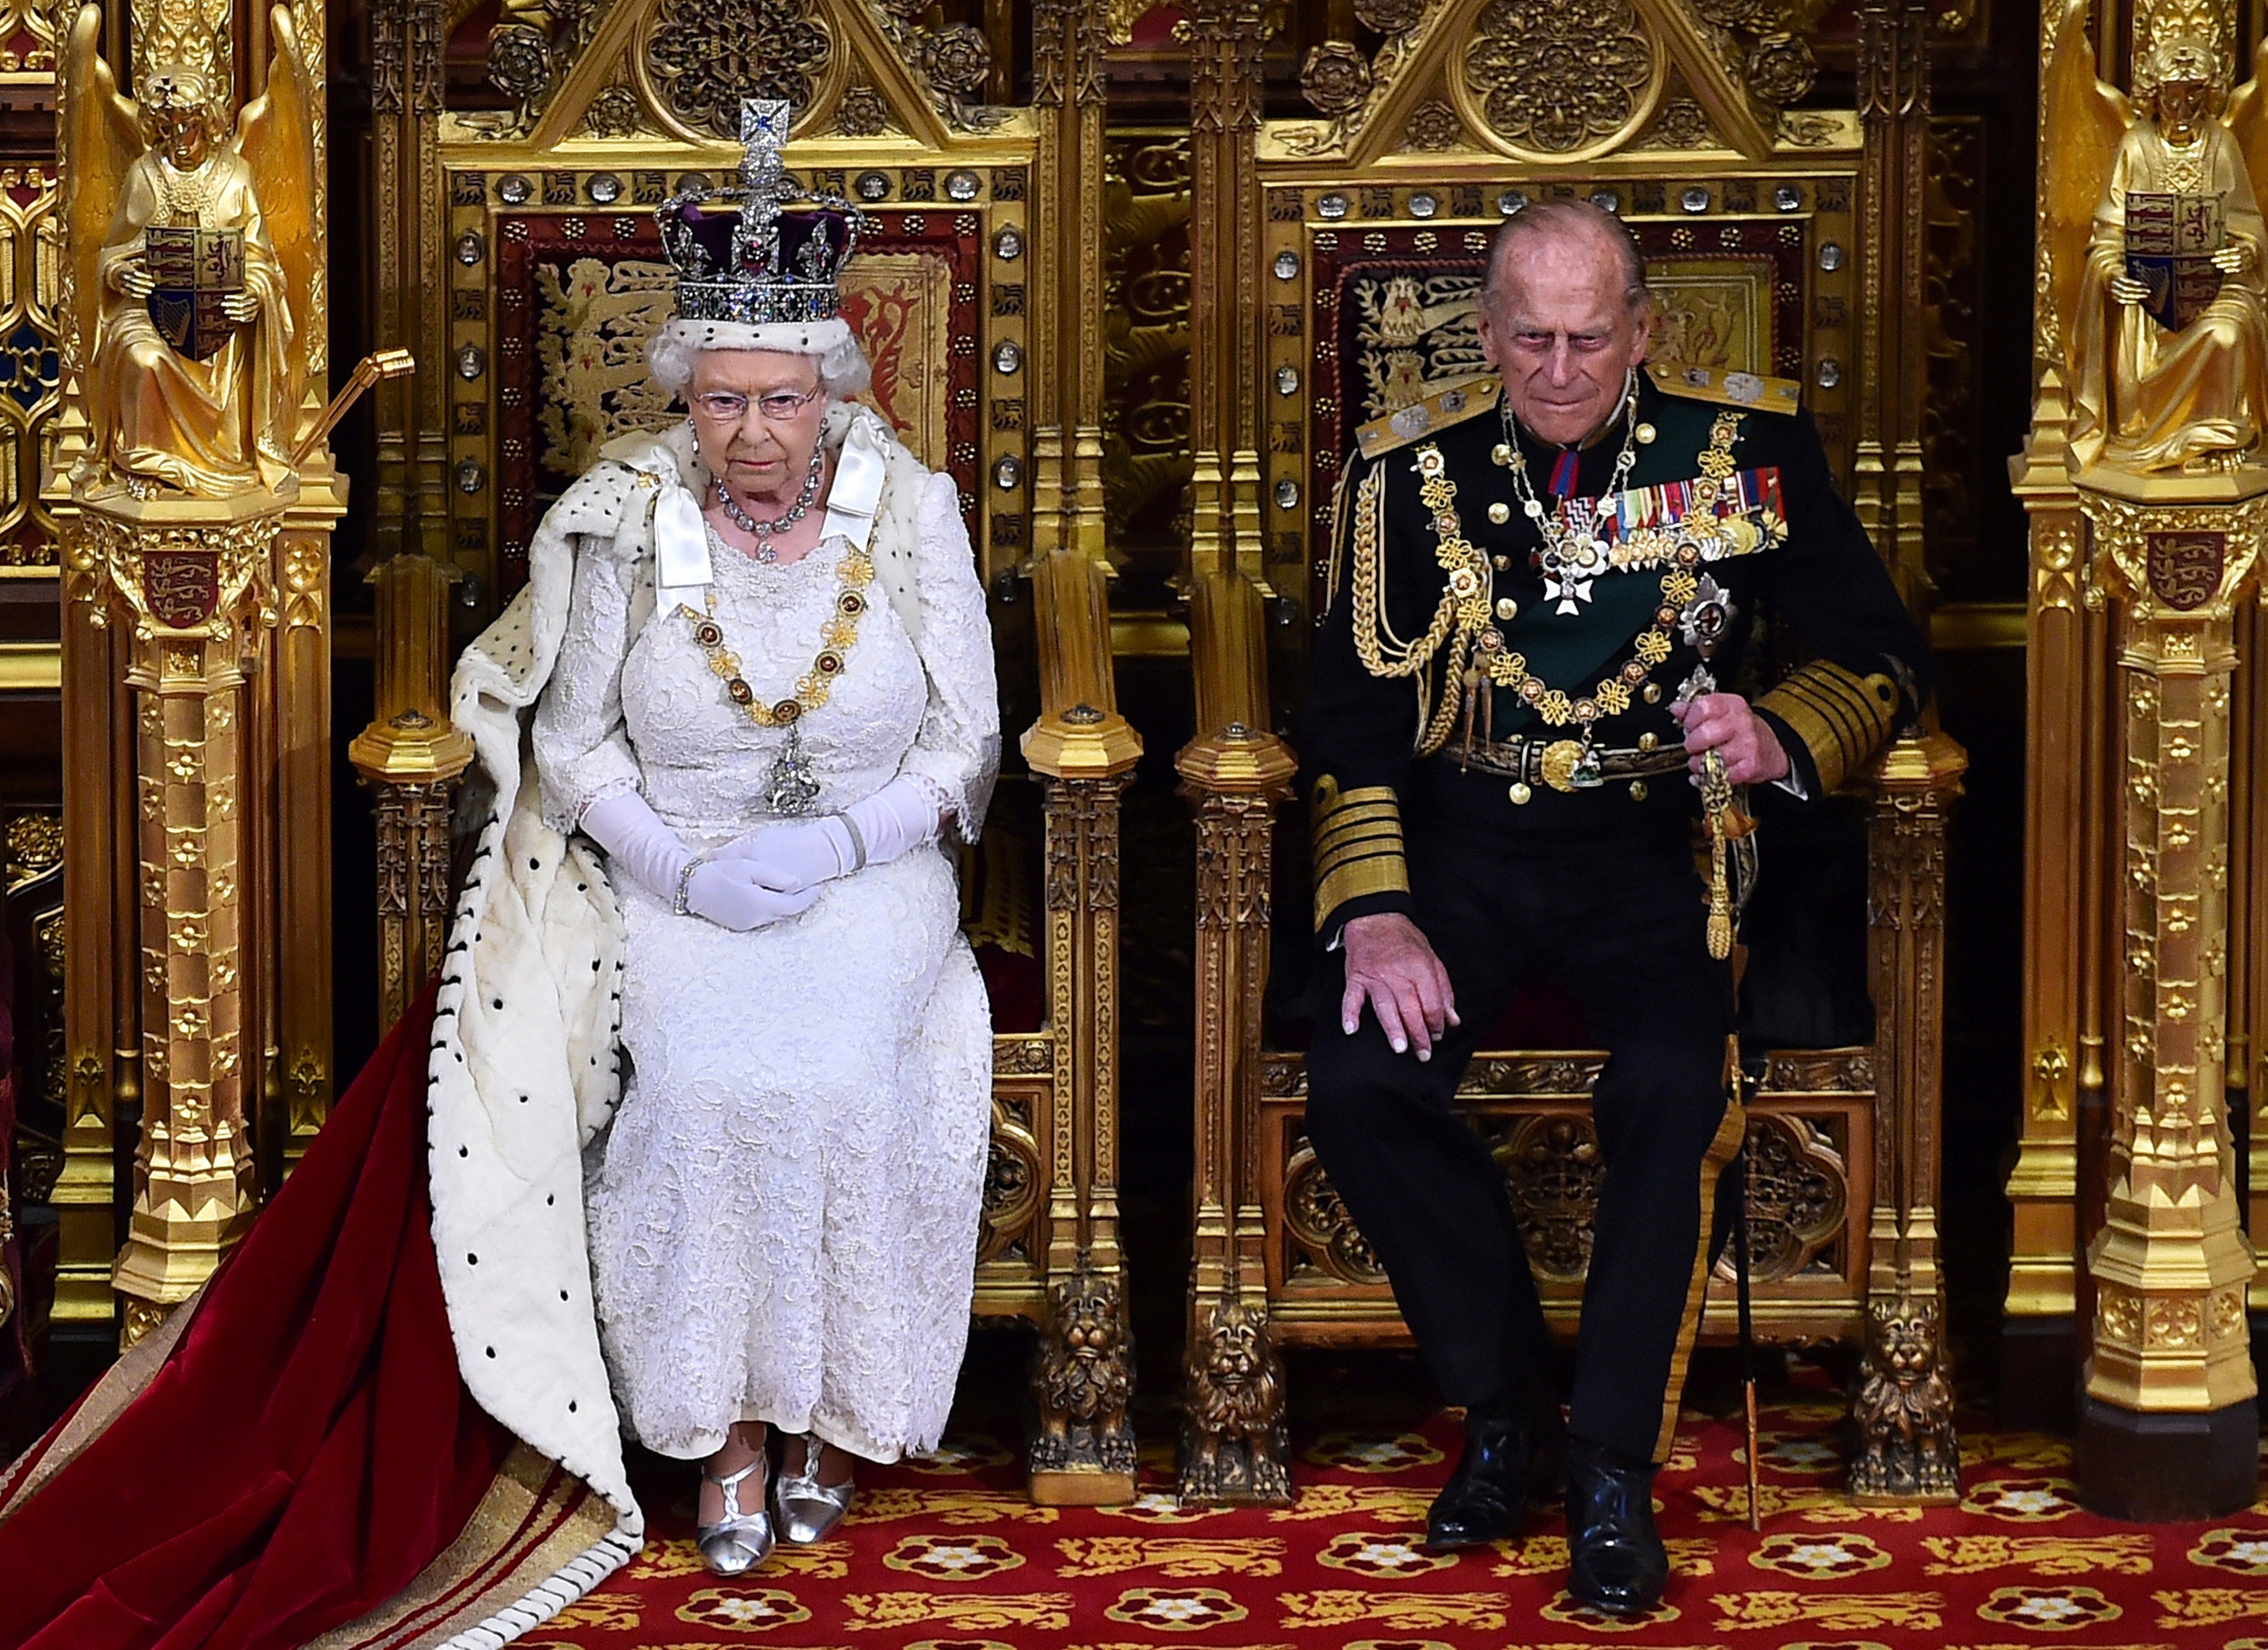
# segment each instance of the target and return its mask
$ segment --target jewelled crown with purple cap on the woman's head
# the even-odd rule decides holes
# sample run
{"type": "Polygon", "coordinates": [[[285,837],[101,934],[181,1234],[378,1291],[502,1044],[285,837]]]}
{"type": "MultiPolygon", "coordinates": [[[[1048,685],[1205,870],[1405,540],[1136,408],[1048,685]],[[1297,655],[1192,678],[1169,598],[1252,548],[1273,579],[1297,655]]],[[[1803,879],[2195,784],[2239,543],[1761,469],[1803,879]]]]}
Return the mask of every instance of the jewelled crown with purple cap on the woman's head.
{"type": "Polygon", "coordinates": [[[780,145],[792,113],[782,98],[744,100],[739,184],[689,184],[653,209],[662,250],[678,266],[683,320],[767,327],[835,318],[837,279],[866,220],[841,195],[812,193],[787,175],[780,145]]]}

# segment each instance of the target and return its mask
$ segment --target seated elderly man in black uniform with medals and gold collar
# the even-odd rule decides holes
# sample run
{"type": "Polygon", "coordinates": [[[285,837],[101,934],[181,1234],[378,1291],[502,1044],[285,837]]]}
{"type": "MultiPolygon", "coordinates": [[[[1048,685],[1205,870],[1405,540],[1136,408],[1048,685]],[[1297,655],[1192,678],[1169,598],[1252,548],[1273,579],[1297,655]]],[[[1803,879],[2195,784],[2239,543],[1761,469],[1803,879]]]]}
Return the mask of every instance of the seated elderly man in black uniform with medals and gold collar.
{"type": "Polygon", "coordinates": [[[1479,329],[1495,374],[1365,427],[1340,483],[1304,726],[1325,946],[1306,1128],[1465,1407],[1429,1541],[1506,1537],[1563,1421],[1456,1085],[1524,980],[1583,1008],[1610,1058],[1569,1589],[1637,1614],[1667,1580],[1651,1482],[1744,1128],[1687,769],[1715,751],[1733,785],[1826,797],[1919,715],[1926,649],[1796,386],[1647,363],[1644,263],[1613,216],[1506,220],[1479,329]],[[1762,608],[1810,663],[1751,704],[1730,688],[1762,608]]]}

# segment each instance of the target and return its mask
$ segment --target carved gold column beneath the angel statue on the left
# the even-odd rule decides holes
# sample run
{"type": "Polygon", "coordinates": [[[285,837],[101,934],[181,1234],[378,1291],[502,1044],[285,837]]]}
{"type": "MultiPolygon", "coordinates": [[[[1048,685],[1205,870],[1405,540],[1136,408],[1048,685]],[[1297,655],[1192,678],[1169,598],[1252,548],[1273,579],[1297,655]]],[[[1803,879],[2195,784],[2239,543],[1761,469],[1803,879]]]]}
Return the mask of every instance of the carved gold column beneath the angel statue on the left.
{"type": "MultiPolygon", "coordinates": [[[[259,1203],[245,1085],[259,1035],[245,992],[245,665],[274,624],[284,499],[82,502],[66,556],[107,588],[134,690],[134,899],[143,1128],[113,1287],[132,1344],[186,1300],[259,1203]]],[[[120,842],[120,847],[125,847],[120,842]]]]}

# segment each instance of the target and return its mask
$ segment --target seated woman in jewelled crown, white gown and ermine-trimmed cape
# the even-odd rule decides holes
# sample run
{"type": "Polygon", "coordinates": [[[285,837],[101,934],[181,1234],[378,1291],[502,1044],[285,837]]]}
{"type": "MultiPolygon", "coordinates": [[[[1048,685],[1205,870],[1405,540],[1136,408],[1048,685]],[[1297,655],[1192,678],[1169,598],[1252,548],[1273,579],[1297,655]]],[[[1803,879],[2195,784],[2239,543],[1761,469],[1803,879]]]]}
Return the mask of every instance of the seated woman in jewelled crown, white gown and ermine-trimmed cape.
{"type": "Polygon", "coordinates": [[[612,1414],[699,1462],[723,1575],[823,1537],[853,1459],[937,1443],[991,1114],[941,849],[998,767],[984,595],[953,479],[846,399],[857,216],[798,204],[785,107],[753,118],[728,207],[662,209],[649,365],[687,420],[606,447],[458,665],[494,803],[431,1123],[467,1382],[601,1493],[612,1414]],[[581,1178],[524,1123],[547,1092],[581,1178]]]}

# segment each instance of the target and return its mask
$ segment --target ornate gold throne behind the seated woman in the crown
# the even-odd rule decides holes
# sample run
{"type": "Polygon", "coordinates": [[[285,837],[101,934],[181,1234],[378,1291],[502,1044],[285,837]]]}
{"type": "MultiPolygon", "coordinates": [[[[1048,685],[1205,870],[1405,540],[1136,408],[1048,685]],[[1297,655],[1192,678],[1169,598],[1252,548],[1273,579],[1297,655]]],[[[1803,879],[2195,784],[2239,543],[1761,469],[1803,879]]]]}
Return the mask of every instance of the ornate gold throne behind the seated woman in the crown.
{"type": "Polygon", "coordinates": [[[483,611],[510,599],[538,520],[606,440],[683,418],[644,368],[669,306],[653,207],[687,175],[739,166],[739,100],[755,82],[719,66],[755,52],[760,89],[796,107],[789,170],[866,213],[844,284],[873,361],[862,399],[962,488],[1002,722],[1023,733],[1023,763],[1009,760],[964,862],[996,1019],[973,1310],[1041,1330],[1034,1498],[1125,1500],[1116,810],[1141,744],[1109,672],[1102,352],[1100,327],[1082,325],[1100,291],[1100,79],[1086,61],[1100,36],[1077,7],[1041,7],[1034,107],[1005,109],[980,100],[993,84],[980,34],[898,11],[814,2],[785,34],[739,39],[746,16],[680,0],[612,0],[572,23],[508,2],[451,45],[485,54],[510,100],[492,109],[422,100],[399,66],[433,45],[376,20],[390,197],[376,204],[374,309],[381,343],[429,363],[381,402],[379,429],[381,719],[356,760],[381,822],[381,994],[388,1012],[415,994],[447,912],[447,856],[431,851],[454,781],[431,735],[447,649],[417,638],[435,633],[451,583],[483,611]]]}

